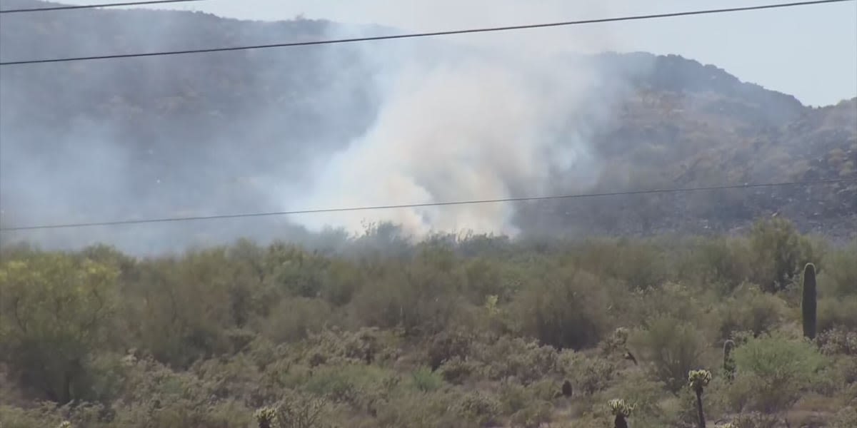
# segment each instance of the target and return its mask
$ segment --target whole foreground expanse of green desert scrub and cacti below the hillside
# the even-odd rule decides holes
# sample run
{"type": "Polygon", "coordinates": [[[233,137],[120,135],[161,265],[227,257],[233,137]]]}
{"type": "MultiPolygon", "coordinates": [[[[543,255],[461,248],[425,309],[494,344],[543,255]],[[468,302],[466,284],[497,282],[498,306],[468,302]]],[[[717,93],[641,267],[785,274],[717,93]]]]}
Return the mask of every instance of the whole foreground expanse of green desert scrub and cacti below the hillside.
{"type": "Polygon", "coordinates": [[[857,241],[387,232],[6,247],[0,426],[857,424],[857,241]]]}

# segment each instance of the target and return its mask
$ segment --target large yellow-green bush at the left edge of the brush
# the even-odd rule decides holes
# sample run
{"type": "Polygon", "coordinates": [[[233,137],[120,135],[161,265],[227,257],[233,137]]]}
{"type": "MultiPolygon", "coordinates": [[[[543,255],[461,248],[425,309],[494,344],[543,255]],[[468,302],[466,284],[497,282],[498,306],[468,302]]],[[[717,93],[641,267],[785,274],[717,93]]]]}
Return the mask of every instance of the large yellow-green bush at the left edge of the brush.
{"type": "Polygon", "coordinates": [[[0,361],[42,398],[93,396],[93,364],[109,348],[117,268],[63,253],[0,264],[0,361]]]}

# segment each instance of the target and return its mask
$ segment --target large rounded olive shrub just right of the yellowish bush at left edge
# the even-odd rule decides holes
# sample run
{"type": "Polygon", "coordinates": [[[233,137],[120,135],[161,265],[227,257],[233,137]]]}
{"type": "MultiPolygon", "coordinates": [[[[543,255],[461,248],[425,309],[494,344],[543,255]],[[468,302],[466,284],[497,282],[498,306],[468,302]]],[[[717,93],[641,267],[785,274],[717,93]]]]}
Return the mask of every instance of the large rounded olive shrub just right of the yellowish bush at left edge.
{"type": "MultiPolygon", "coordinates": [[[[233,299],[243,299],[239,288],[246,282],[224,248],[150,259],[136,269],[135,282],[124,287],[122,309],[129,339],[138,348],[177,368],[233,351],[227,335],[237,326],[233,299]]],[[[241,317],[251,316],[246,310],[241,317]]]]}

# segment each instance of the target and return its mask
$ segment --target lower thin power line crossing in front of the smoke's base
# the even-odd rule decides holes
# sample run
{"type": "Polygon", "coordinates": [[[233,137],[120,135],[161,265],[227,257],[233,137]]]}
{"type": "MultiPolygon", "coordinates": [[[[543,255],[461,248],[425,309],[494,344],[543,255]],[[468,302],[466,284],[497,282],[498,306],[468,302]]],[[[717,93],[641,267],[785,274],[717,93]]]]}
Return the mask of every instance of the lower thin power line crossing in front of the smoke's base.
{"type": "Polygon", "coordinates": [[[392,210],[399,208],[420,208],[427,206],[449,206],[449,205],[476,205],[476,204],[495,204],[501,202],[523,202],[531,200],[550,200],[550,199],[578,199],[578,198],[598,198],[605,196],[628,196],[637,194],[653,194],[653,193],[689,193],[701,192],[710,190],[726,190],[726,189],[747,189],[758,187],[786,187],[786,186],[812,186],[816,184],[831,184],[842,182],[857,182],[857,177],[840,178],[832,180],[818,181],[788,181],[776,183],[753,183],[753,184],[736,184],[730,186],[711,186],[711,187],[684,187],[684,188],[667,188],[667,189],[651,189],[651,190],[636,190],[628,192],[611,192],[611,193],[578,193],[553,196],[530,196],[521,198],[502,198],[502,199],[476,199],[476,200],[461,200],[447,202],[427,202],[423,204],[399,204],[399,205],[374,205],[374,206],[356,206],[348,208],[322,208],[311,210],[297,211],[272,211],[272,212],[249,212],[241,214],[219,214],[213,216],[195,216],[195,217],[162,217],[162,218],[147,218],[139,220],[115,220],[108,222],[91,222],[91,223],[65,223],[65,224],[45,224],[38,226],[15,226],[10,228],[0,228],[0,232],[15,231],[15,230],[35,230],[35,229],[70,229],[70,228],[85,228],[92,226],[116,226],[123,224],[141,224],[141,223],[169,223],[169,222],[187,222],[196,220],[217,220],[225,218],[243,218],[243,217],[273,217],[287,216],[297,214],[319,214],[325,212],[344,212],[344,211],[370,211],[370,210],[392,210]]]}

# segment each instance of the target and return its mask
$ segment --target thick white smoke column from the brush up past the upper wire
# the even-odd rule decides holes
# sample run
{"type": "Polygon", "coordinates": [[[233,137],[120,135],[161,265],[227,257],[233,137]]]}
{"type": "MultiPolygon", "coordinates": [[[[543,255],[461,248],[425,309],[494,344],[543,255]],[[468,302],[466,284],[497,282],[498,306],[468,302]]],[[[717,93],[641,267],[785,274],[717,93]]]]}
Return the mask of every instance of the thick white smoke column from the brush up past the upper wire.
{"type": "MultiPolygon", "coordinates": [[[[375,35],[334,30],[333,39],[375,35]]],[[[284,198],[285,209],[443,204],[590,187],[600,169],[592,134],[614,118],[612,107],[628,86],[618,74],[602,74],[591,57],[572,55],[598,48],[594,33],[582,34],[560,29],[360,45],[361,61],[375,65],[375,119],[324,158],[309,187],[284,198]]],[[[294,220],[311,230],[351,233],[389,222],[415,237],[517,235],[519,206],[417,206],[294,220]]]]}

